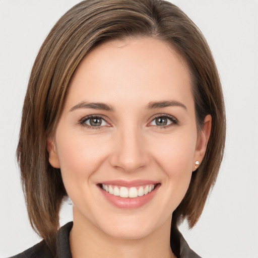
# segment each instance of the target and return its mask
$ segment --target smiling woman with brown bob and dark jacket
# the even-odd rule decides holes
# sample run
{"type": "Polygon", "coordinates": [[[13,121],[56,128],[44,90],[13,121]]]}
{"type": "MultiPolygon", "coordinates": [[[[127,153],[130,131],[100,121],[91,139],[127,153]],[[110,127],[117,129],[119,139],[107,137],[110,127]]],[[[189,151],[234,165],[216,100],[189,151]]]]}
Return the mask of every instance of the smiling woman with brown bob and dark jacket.
{"type": "Polygon", "coordinates": [[[217,69],[184,13],[78,4],[44,41],[25,97],[17,156],[44,240],[18,257],[199,257],[177,227],[200,217],[224,142],[217,69]],[[56,235],[67,196],[74,223],[56,235]]]}

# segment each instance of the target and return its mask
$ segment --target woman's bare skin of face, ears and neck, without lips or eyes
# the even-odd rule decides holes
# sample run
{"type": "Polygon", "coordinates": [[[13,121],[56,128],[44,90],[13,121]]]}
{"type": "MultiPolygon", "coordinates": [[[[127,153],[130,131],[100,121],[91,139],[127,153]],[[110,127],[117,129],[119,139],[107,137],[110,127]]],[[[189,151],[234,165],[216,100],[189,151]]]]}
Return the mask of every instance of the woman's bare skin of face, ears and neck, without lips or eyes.
{"type": "Polygon", "coordinates": [[[154,38],[111,41],[84,57],[55,134],[48,138],[49,162],[61,169],[74,203],[73,257],[175,257],[169,242],[171,216],[195,162],[202,162],[210,131],[210,115],[197,131],[189,72],[168,43],[154,38]],[[75,108],[82,101],[103,102],[113,111],[75,108]],[[146,108],[154,101],[177,105],[146,108]],[[88,115],[102,117],[103,126],[89,127],[89,120],[81,124],[88,115]],[[166,117],[168,125],[157,125],[157,115],[177,122],[166,117]],[[160,187],[144,206],[120,209],[103,198],[97,185],[118,179],[148,179],[160,187]]]}

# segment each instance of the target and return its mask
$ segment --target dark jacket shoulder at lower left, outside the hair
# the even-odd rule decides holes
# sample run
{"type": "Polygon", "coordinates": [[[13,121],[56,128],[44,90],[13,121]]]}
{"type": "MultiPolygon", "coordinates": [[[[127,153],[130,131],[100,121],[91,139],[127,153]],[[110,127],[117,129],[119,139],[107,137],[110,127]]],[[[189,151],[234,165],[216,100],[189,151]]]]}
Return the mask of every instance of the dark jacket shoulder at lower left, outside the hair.
{"type": "Polygon", "coordinates": [[[38,244],[35,244],[31,248],[16,254],[10,258],[52,258],[50,249],[47,247],[45,241],[41,241],[38,244]]]}

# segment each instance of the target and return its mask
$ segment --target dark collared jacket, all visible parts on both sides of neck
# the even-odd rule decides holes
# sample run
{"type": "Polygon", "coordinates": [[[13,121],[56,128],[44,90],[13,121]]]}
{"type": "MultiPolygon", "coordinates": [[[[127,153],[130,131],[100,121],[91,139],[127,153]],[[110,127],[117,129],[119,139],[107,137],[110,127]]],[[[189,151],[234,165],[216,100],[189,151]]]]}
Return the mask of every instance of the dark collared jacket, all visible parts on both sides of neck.
{"type": "MultiPolygon", "coordinates": [[[[69,222],[61,227],[56,236],[56,258],[72,258],[69,235],[73,227],[73,222],[69,222]]],[[[190,249],[183,236],[179,231],[176,233],[177,242],[180,250],[180,256],[178,258],[201,258],[194,251],[190,249]]],[[[10,258],[54,258],[50,252],[50,249],[46,245],[45,241],[32,246],[24,252],[21,252],[10,258]]]]}

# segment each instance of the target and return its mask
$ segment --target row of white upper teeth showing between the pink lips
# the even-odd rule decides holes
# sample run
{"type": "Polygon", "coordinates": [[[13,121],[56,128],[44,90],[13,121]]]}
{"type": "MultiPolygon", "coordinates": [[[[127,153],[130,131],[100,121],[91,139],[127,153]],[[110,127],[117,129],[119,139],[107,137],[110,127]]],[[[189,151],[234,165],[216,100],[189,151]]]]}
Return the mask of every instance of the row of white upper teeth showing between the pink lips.
{"type": "Polygon", "coordinates": [[[120,196],[122,198],[137,198],[138,196],[147,195],[154,190],[155,185],[144,185],[140,187],[124,187],[102,184],[102,189],[109,192],[110,195],[120,196]]]}

